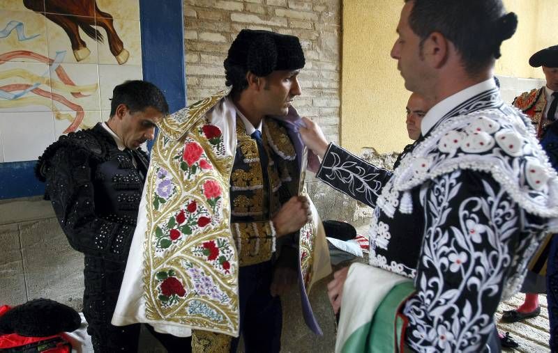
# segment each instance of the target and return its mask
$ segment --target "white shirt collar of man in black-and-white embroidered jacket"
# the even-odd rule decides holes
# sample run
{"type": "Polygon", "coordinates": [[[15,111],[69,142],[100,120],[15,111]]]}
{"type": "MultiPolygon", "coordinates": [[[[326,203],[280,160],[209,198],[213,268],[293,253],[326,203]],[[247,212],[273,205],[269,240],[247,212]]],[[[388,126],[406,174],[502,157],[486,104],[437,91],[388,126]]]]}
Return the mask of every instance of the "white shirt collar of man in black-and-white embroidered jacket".
{"type": "Polygon", "coordinates": [[[438,102],[434,107],[430,108],[428,113],[424,116],[421,122],[421,133],[425,136],[425,134],[427,134],[441,118],[449,113],[451,109],[457,107],[459,104],[469,100],[475,95],[488,91],[492,88],[496,88],[496,83],[494,79],[490,77],[490,79],[487,79],[486,81],[469,86],[454,95],[450,95],[445,100],[438,102]]]}

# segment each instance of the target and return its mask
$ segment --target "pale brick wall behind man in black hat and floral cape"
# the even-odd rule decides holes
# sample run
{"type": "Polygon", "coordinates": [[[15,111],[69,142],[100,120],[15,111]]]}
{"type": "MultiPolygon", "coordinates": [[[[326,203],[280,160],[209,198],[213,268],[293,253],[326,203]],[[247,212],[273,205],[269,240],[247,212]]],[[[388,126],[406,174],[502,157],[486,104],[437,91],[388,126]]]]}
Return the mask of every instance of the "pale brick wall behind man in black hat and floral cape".
{"type": "Polygon", "coordinates": [[[339,141],[341,0],[183,0],[188,104],[225,89],[223,61],[241,29],[298,36],[306,56],[294,107],[339,141]]]}

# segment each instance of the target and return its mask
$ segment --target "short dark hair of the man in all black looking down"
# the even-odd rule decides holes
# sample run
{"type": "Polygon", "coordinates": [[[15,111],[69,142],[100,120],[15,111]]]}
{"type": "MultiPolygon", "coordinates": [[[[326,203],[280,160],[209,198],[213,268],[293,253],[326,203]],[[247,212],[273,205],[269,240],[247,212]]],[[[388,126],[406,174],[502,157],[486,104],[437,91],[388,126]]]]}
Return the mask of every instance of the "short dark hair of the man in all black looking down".
{"type": "Polygon", "coordinates": [[[169,104],[163,92],[148,81],[130,80],[119,84],[112,90],[110,100],[110,116],[116,113],[116,107],[126,104],[130,113],[144,111],[146,108],[153,107],[164,115],[169,112],[169,104]]]}

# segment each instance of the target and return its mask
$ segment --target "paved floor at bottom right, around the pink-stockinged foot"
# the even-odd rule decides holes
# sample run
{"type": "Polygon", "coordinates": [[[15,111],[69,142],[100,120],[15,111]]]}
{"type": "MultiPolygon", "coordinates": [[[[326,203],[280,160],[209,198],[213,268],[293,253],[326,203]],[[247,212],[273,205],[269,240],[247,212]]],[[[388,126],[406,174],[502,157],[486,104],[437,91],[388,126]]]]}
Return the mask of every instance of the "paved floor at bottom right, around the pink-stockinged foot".
{"type": "Polygon", "coordinates": [[[518,294],[509,301],[500,303],[498,306],[498,311],[495,315],[498,330],[500,332],[509,332],[520,345],[515,350],[505,350],[504,352],[550,352],[548,347],[548,339],[550,338],[548,331],[550,326],[548,324],[545,295],[539,295],[538,298],[541,304],[541,315],[523,322],[514,322],[513,324],[499,322],[504,311],[517,308],[523,303],[523,299],[525,299],[525,295],[518,294]]]}

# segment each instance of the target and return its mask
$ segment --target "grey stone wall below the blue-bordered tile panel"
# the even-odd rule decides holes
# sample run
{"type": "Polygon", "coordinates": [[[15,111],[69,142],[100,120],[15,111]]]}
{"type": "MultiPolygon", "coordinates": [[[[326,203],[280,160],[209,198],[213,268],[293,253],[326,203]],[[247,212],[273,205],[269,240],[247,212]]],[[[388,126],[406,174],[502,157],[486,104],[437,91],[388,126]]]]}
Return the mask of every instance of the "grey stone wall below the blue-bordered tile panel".
{"type": "Polygon", "coordinates": [[[0,305],[44,297],[81,311],[82,271],[49,201],[0,201],[0,305]]]}

